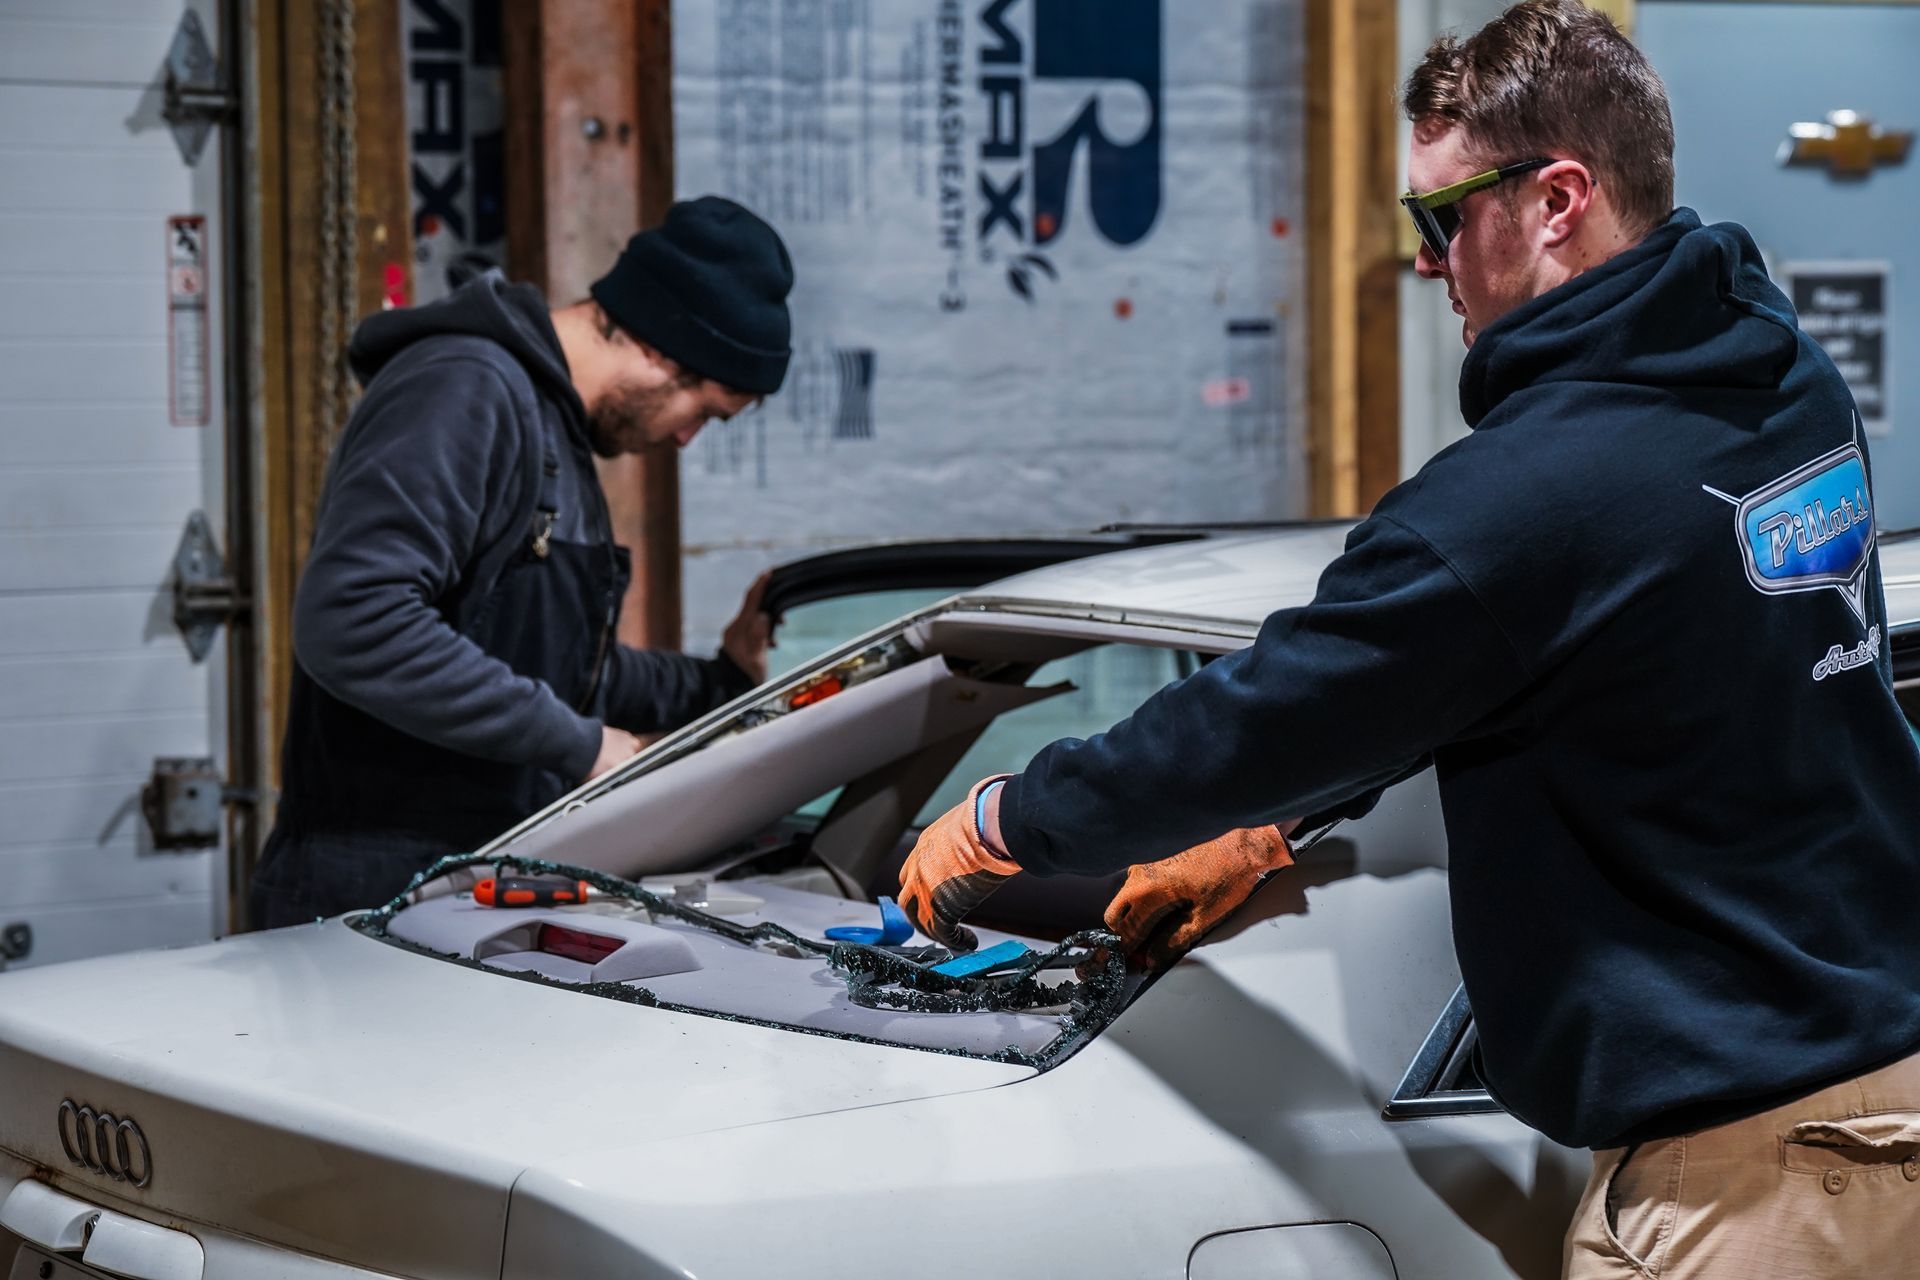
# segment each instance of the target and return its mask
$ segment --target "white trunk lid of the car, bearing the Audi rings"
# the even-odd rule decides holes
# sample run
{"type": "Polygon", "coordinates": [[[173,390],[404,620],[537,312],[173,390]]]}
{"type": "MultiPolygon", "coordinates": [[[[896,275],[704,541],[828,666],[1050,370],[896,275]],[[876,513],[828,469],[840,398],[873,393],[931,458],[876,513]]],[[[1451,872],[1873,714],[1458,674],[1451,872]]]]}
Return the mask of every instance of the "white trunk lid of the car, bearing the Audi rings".
{"type": "Polygon", "coordinates": [[[497,1276],[534,1165],[1029,1075],[520,983],[342,921],[0,977],[0,1148],[79,1196],[401,1274],[497,1276]],[[138,1123],[150,1186],[77,1169],[61,1100],[138,1123]]]}

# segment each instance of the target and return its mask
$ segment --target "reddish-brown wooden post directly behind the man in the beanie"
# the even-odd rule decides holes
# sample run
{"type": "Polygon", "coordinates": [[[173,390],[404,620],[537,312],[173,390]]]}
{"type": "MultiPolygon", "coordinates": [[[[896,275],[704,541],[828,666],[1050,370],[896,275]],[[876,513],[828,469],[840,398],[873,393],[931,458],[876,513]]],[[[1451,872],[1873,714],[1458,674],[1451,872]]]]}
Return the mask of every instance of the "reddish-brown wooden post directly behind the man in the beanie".
{"type": "MultiPolygon", "coordinates": [[[[668,0],[503,8],[507,259],[555,305],[578,301],[672,201],[668,0]]],[[[680,645],[680,459],[603,459],[614,539],[634,549],[628,645],[680,645]]]]}

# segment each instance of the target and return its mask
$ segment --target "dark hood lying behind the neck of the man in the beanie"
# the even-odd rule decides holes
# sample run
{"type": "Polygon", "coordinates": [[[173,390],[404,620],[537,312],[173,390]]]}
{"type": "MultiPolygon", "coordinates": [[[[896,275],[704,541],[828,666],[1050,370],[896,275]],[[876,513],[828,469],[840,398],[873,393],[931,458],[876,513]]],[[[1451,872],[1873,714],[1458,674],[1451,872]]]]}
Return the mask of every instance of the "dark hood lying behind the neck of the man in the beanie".
{"type": "Polygon", "coordinates": [[[497,271],[468,280],[440,301],[367,317],[353,330],[348,361],[353,376],[367,386],[413,344],[449,334],[497,342],[528,370],[540,391],[566,405],[572,416],[586,418],[545,296],[532,284],[511,284],[497,271]]]}

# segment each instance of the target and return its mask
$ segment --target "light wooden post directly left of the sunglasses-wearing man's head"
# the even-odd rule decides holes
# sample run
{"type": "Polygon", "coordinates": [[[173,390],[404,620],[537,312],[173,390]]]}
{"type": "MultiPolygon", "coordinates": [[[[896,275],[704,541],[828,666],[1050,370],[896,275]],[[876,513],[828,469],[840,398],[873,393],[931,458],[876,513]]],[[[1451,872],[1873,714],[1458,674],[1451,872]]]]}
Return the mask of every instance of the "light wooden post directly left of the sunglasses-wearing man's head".
{"type": "Polygon", "coordinates": [[[1400,480],[1394,4],[1308,4],[1311,514],[1363,514],[1400,480]]]}

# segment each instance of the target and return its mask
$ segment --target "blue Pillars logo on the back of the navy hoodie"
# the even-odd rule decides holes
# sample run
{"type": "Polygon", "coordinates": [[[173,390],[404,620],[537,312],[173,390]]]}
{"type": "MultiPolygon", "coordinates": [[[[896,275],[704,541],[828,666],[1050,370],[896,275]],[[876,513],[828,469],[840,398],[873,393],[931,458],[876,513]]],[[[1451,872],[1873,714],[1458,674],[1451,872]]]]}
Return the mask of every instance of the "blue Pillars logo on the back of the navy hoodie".
{"type": "Polygon", "coordinates": [[[1866,620],[1866,568],[1874,558],[1874,512],[1866,461],[1843,445],[1745,497],[1701,486],[1736,509],[1734,528],[1755,591],[1832,587],[1866,620]]]}

